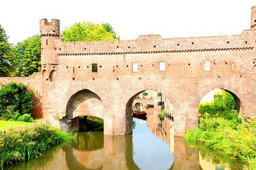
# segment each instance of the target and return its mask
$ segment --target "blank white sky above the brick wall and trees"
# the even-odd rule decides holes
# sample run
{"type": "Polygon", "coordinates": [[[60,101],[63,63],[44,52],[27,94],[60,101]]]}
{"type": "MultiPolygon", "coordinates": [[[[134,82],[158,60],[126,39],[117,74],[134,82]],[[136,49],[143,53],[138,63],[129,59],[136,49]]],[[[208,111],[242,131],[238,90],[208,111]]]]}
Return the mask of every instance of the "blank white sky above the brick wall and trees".
{"type": "Polygon", "coordinates": [[[39,20],[60,20],[61,31],[77,22],[108,22],[121,39],[241,34],[250,28],[255,0],[2,0],[0,24],[10,43],[39,33],[39,20]]]}

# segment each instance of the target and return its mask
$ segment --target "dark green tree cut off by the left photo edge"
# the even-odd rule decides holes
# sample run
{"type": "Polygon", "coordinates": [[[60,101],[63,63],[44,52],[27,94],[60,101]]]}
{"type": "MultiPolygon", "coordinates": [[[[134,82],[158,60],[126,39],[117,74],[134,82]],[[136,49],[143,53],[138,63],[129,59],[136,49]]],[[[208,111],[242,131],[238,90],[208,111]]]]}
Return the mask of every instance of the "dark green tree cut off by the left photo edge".
{"type": "Polygon", "coordinates": [[[12,47],[8,43],[8,36],[0,25],[0,76],[9,76],[12,70],[12,47]]]}

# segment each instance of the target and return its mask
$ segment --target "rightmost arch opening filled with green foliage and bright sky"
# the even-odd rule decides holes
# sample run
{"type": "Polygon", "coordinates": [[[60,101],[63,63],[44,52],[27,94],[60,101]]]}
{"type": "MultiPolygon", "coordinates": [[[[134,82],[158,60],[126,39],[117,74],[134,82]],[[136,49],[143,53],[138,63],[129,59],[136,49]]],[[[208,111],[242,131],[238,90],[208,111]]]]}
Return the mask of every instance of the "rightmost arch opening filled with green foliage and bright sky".
{"type": "Polygon", "coordinates": [[[224,117],[230,119],[241,114],[241,101],[227,89],[214,89],[205,94],[198,104],[199,117],[224,117]]]}

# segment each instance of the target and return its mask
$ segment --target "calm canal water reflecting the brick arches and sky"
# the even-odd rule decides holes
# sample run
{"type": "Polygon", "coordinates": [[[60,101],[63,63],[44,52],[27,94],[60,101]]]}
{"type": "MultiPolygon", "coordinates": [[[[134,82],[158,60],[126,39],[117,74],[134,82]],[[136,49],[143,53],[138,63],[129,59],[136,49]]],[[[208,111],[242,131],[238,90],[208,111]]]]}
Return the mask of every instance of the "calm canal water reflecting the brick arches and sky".
{"type": "Polygon", "coordinates": [[[42,157],[5,169],[243,169],[236,160],[174,138],[172,124],[153,109],[147,120],[134,118],[131,134],[75,132],[71,145],[56,146],[42,157]]]}

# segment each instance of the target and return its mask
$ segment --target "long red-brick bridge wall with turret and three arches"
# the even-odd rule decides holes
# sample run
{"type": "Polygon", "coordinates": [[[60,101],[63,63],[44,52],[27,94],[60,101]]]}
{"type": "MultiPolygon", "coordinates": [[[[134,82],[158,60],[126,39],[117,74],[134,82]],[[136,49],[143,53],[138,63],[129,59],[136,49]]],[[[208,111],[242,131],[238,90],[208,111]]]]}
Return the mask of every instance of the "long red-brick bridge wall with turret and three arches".
{"type": "Polygon", "coordinates": [[[132,131],[132,102],[145,90],[173,105],[175,136],[198,124],[198,104],[211,90],[232,94],[239,116],[256,116],[256,6],[250,29],[234,36],[65,42],[60,20],[40,20],[42,73],[22,81],[37,89],[38,117],[76,131],[78,117],[104,120],[104,134],[132,131]]]}

